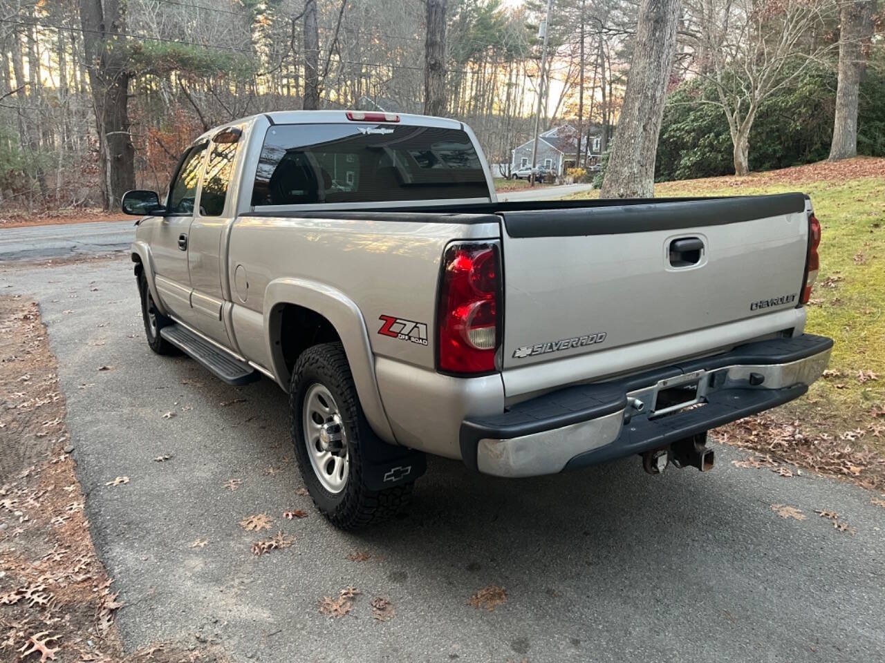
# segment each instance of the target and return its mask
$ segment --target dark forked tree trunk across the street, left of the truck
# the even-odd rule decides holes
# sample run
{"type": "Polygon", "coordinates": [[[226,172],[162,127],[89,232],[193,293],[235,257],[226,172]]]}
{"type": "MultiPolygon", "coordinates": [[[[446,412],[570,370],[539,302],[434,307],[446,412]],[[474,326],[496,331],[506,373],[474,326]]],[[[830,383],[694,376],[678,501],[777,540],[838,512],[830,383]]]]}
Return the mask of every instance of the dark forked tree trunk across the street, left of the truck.
{"type": "Polygon", "coordinates": [[[85,62],[96,113],[104,209],[119,205],[135,188],[135,147],[129,133],[129,80],[125,45],[119,40],[126,19],[120,0],[80,0],[85,62]]]}

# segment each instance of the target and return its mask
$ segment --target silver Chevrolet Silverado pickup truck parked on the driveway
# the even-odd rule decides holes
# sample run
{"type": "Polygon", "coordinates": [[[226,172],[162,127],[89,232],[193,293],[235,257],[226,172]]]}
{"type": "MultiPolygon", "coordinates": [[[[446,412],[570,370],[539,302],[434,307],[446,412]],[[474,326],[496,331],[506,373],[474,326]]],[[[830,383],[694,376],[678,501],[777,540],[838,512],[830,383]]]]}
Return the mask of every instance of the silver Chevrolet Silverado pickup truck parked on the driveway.
{"type": "Polygon", "coordinates": [[[403,507],[425,453],[509,477],[710,469],[706,431],[803,395],[832,347],[803,333],[804,194],[497,202],[450,119],[255,115],[123,210],[150,347],[288,391],[342,528],[403,507]]]}

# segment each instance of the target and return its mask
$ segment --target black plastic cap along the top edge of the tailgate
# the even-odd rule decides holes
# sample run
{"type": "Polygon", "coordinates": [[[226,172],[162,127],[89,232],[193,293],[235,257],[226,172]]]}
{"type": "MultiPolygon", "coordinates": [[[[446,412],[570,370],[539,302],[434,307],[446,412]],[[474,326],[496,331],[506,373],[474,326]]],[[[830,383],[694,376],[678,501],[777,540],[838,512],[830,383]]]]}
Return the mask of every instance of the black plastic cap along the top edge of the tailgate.
{"type": "Polygon", "coordinates": [[[562,209],[550,205],[547,210],[500,213],[511,237],[571,237],[736,224],[805,210],[805,196],[798,193],[606,203],[599,207],[562,209]]]}

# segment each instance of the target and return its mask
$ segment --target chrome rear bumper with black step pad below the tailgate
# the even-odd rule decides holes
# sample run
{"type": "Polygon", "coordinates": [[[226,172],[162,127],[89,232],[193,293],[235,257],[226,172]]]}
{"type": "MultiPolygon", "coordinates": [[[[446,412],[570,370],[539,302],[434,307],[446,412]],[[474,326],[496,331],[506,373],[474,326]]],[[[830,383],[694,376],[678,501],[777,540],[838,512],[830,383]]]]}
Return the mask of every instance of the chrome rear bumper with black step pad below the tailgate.
{"type": "Polygon", "coordinates": [[[642,453],[798,398],[823,373],[832,347],[832,339],[803,334],[566,387],[501,415],[467,419],[461,454],[484,474],[537,476],[642,453]],[[658,405],[660,392],[676,388],[693,400],[658,405]]]}

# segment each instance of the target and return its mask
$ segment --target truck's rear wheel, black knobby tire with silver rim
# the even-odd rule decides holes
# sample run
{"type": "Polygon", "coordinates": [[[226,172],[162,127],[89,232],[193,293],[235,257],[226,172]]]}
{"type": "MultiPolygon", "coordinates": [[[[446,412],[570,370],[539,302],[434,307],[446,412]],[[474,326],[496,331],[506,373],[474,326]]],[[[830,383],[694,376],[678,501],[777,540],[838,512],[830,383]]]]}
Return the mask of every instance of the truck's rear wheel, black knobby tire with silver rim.
{"type": "Polygon", "coordinates": [[[366,421],[340,343],[304,351],[289,386],[292,441],[320,513],[342,530],[387,520],[407,504],[412,484],[366,487],[363,450],[381,444],[366,421]]]}

